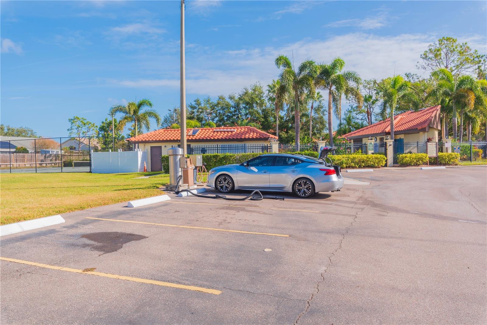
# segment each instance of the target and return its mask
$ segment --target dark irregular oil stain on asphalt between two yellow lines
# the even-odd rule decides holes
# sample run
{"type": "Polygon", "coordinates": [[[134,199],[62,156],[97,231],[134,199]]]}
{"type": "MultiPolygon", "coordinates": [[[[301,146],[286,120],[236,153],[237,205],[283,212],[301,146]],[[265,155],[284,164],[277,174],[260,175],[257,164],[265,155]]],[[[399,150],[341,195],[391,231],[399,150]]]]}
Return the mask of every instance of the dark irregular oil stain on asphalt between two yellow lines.
{"type": "Polygon", "coordinates": [[[130,243],[131,241],[137,241],[148,237],[134,233],[112,231],[87,233],[82,235],[80,238],[86,238],[98,243],[83,246],[90,247],[92,250],[101,251],[103,254],[105,254],[117,251],[118,249],[121,249],[124,244],[130,243]]]}

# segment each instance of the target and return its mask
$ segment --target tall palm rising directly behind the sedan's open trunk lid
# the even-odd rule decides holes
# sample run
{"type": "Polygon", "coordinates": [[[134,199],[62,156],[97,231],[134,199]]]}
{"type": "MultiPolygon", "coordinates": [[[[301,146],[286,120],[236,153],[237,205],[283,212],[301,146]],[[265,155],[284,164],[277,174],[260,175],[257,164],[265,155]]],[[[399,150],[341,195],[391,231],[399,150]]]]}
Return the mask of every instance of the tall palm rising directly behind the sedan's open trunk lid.
{"type": "Polygon", "coordinates": [[[332,109],[335,109],[337,118],[341,118],[341,96],[355,98],[359,108],[362,107],[363,97],[358,91],[358,85],[362,79],[355,71],[345,71],[345,61],[336,57],[330,64],[319,66],[319,88],[328,91],[328,133],[330,134],[330,145],[333,146],[333,117],[332,109]]]}

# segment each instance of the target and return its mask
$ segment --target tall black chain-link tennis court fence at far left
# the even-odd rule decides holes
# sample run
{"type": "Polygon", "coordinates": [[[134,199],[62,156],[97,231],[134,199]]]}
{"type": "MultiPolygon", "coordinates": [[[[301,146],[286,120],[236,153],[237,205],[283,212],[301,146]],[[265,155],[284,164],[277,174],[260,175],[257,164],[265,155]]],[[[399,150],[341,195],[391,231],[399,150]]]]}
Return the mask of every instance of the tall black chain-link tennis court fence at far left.
{"type": "Polygon", "coordinates": [[[91,151],[131,151],[117,137],[0,137],[0,172],[91,172],[91,151]]]}

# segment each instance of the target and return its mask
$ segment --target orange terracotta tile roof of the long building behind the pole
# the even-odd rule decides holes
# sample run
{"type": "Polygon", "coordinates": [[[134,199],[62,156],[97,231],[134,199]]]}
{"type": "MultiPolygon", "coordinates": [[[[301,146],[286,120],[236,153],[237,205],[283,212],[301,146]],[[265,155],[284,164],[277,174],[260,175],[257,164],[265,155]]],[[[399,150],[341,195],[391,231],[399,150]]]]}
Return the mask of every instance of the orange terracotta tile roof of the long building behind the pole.
{"type": "MultiPolygon", "coordinates": [[[[277,137],[250,126],[225,126],[220,128],[187,129],[187,141],[277,140],[277,137]]],[[[180,141],[180,129],[160,129],[127,139],[130,142],[180,141]]]]}

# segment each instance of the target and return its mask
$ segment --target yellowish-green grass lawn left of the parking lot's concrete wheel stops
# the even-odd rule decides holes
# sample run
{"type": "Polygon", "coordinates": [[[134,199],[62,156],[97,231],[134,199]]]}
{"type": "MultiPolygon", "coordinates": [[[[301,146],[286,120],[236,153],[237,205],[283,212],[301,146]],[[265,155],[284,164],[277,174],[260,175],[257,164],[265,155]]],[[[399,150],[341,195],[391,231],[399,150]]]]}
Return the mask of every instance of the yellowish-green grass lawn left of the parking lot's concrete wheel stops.
{"type": "Polygon", "coordinates": [[[169,174],[8,173],[0,176],[0,224],[163,194],[169,174]]]}

